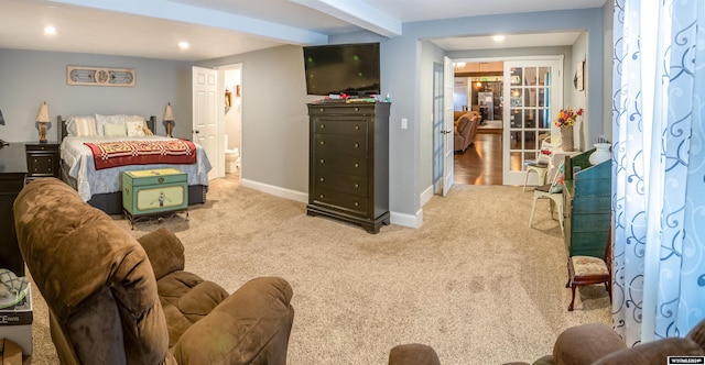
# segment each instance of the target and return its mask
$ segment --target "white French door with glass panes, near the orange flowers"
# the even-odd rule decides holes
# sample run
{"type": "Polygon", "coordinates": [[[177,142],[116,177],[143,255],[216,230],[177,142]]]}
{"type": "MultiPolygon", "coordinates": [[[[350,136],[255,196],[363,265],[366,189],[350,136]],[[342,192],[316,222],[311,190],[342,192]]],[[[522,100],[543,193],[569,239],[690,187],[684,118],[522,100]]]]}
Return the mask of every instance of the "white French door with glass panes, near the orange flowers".
{"type": "MultiPolygon", "coordinates": [[[[505,62],[502,184],[523,185],[524,162],[535,161],[539,141],[551,134],[563,100],[562,57],[505,62]]],[[[536,174],[531,174],[538,184],[536,174]]]]}

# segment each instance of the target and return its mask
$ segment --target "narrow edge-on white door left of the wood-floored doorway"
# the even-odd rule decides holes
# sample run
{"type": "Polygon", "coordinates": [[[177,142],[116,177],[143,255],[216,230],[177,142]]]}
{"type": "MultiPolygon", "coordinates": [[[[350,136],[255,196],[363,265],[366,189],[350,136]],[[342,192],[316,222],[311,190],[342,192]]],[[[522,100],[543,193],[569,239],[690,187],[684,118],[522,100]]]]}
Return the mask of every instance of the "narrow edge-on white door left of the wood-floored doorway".
{"type": "Polygon", "coordinates": [[[444,58],[443,73],[443,196],[453,187],[453,60],[444,58]]]}

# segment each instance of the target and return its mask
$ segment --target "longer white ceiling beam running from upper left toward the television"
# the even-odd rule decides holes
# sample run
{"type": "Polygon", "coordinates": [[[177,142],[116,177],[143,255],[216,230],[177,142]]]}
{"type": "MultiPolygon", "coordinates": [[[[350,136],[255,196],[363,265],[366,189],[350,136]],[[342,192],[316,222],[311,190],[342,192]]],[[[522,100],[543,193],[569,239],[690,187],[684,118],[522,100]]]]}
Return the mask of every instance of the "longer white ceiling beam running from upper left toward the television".
{"type": "Polygon", "coordinates": [[[193,7],[169,0],[51,0],[52,2],[94,8],[198,24],[259,35],[292,44],[326,44],[328,35],[267,22],[234,13],[193,7]]]}

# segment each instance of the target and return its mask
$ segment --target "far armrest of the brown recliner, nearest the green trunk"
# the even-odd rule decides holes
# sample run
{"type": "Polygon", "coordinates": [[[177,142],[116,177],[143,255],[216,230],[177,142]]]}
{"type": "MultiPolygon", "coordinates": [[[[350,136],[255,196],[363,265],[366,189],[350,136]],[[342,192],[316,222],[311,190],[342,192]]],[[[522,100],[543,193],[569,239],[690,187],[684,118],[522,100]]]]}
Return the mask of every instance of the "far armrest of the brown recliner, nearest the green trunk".
{"type": "Polygon", "coordinates": [[[173,272],[183,270],[184,245],[181,240],[166,228],[161,228],[137,240],[150,258],[154,277],[159,280],[173,272]]]}

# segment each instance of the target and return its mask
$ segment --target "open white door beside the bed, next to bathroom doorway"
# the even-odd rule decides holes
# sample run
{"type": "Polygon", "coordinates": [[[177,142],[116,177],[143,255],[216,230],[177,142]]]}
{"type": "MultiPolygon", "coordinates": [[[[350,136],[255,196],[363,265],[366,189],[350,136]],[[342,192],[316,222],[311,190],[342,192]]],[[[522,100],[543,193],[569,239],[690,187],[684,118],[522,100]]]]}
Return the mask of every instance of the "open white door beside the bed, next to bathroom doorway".
{"type": "Polygon", "coordinates": [[[223,176],[225,152],[218,153],[218,71],[193,67],[193,141],[203,146],[213,169],[208,179],[223,176]]]}

